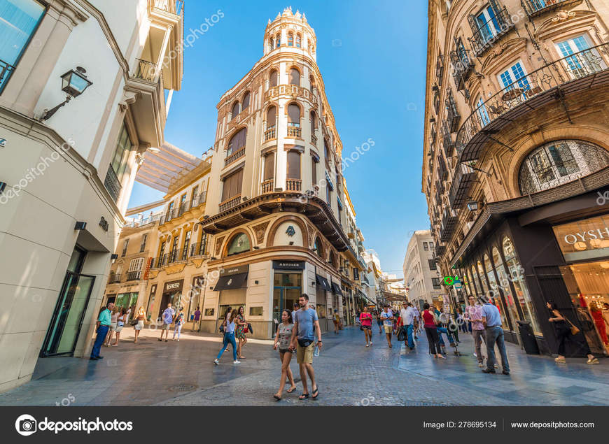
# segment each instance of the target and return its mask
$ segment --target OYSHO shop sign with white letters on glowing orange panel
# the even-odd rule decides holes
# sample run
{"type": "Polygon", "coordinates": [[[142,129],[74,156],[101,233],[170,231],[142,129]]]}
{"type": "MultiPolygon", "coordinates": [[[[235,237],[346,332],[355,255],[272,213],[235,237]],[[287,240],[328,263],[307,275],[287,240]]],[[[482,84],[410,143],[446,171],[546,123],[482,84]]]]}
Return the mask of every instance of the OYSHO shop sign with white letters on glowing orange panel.
{"type": "Polygon", "coordinates": [[[609,249],[609,215],[556,225],[552,229],[567,260],[608,255],[604,249],[609,249]]]}

